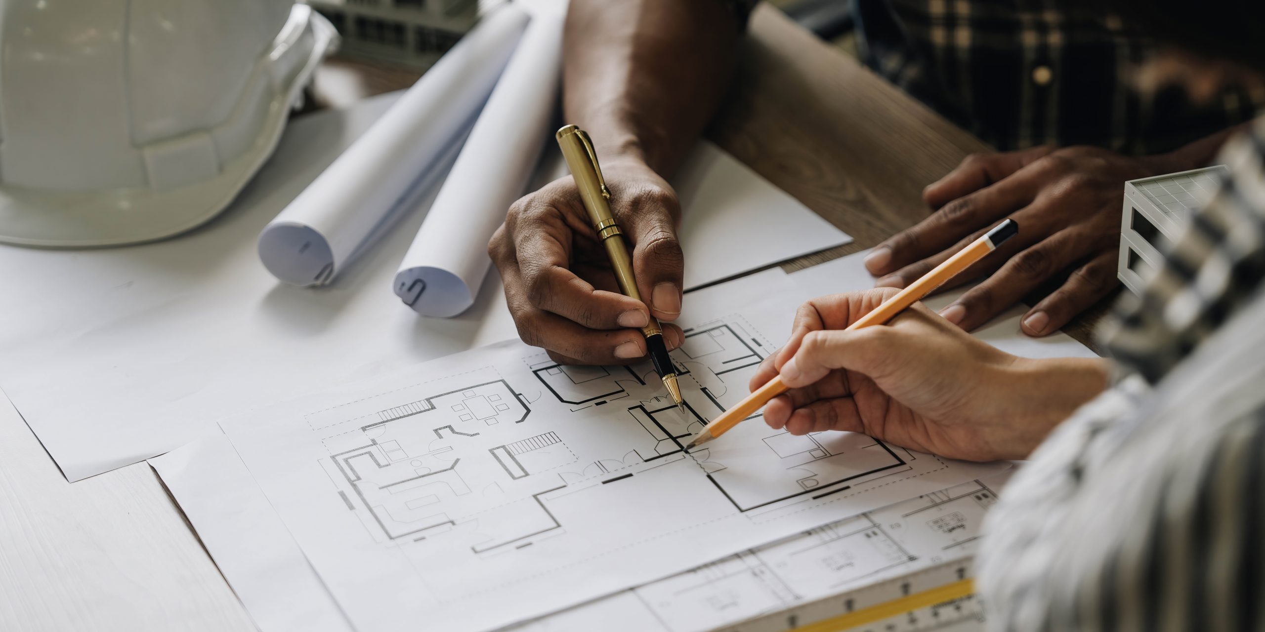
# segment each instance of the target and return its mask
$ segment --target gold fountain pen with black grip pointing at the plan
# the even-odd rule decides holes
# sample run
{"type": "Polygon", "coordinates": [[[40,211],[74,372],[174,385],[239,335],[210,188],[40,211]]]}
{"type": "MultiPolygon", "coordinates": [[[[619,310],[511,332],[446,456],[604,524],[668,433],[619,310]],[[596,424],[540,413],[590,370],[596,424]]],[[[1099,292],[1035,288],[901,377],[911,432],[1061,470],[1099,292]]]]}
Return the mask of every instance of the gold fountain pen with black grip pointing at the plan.
{"type": "MultiPolygon", "coordinates": [[[[593,222],[593,230],[606,245],[606,255],[611,259],[611,268],[615,269],[620,289],[625,296],[641,301],[641,292],[636,288],[636,278],[632,277],[632,259],[629,257],[627,244],[620,236],[624,231],[620,230],[615,216],[611,215],[608,202],[611,192],[606,188],[606,181],[602,179],[602,168],[597,164],[593,143],[588,139],[588,134],[576,125],[559,129],[555,137],[562,154],[567,158],[567,167],[571,168],[571,174],[576,178],[576,188],[579,190],[579,197],[584,202],[584,210],[588,211],[588,219],[593,222]]],[[[677,368],[668,355],[668,345],[663,341],[663,327],[659,326],[659,321],[654,316],[646,316],[650,317],[650,322],[641,327],[641,334],[645,335],[645,348],[650,354],[650,362],[654,363],[654,372],[659,374],[659,379],[663,380],[672,401],[681,406],[681,384],[677,383],[677,368]]]]}

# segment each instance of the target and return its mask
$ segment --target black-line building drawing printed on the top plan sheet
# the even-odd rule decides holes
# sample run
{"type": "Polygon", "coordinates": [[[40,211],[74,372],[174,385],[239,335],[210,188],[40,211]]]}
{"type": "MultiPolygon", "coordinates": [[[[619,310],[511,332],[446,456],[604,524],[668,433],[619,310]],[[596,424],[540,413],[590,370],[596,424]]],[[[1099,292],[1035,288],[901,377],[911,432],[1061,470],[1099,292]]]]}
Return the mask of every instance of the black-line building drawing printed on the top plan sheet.
{"type": "Polygon", "coordinates": [[[726,441],[754,449],[725,450],[716,444],[687,454],[683,444],[745,394],[750,373],[767,353],[767,343],[749,329],[721,321],[686,332],[674,358],[691,396],[684,407],[663,396],[648,364],[564,367],[528,358],[536,379],[525,384],[528,394],[476,372],[472,383],[368,418],[331,422],[331,415],[323,412],[309,421],[340,428],[323,440],[339,450],[323,465],[374,538],[421,541],[471,528],[477,533],[471,550],[477,554],[550,537],[564,530],[550,506],[574,503],[576,498],[564,498],[576,494],[620,495],[619,488],[603,485],[631,485],[636,482],[627,479],[659,468],[701,474],[734,509],[751,512],[811,503],[853,484],[916,471],[913,461],[920,458],[935,460],[864,435],[794,436],[759,420],[735,430],[740,439],[726,441]],[[483,375],[487,382],[481,382],[483,375]],[[616,451],[582,459],[581,454],[595,453],[577,454],[574,435],[563,428],[538,432],[533,407],[558,415],[557,404],[562,415],[577,418],[603,406],[610,408],[602,411],[621,411],[602,417],[608,420],[603,442],[616,451]],[[342,430],[363,421],[368,423],[342,430]],[[345,447],[350,444],[358,445],[345,447]],[[724,456],[713,456],[713,450],[724,456]]]}

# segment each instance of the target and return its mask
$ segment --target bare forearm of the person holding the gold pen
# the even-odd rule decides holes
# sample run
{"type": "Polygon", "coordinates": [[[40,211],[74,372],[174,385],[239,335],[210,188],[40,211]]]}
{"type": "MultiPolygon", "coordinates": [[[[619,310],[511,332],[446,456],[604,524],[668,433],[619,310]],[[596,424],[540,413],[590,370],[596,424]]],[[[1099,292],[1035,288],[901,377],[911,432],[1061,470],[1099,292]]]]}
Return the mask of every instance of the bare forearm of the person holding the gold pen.
{"type": "Polygon", "coordinates": [[[567,123],[603,162],[670,174],[729,83],[735,16],[719,0],[572,0],[565,33],[567,123]]]}

